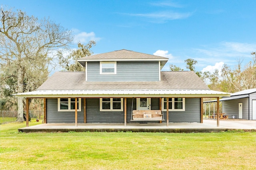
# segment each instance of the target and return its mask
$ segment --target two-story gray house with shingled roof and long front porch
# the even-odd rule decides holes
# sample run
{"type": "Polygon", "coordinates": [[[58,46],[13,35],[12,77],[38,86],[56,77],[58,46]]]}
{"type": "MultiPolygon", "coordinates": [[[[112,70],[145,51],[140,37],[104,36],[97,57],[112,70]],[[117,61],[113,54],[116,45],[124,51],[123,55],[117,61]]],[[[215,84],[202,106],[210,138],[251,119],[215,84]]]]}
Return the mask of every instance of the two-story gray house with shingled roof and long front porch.
{"type": "Polygon", "coordinates": [[[78,61],[85,72],[56,72],[36,91],[15,96],[44,98],[44,123],[76,125],[202,123],[202,98],[230,96],[193,71],[161,71],[166,57],[123,49],[78,61]]]}

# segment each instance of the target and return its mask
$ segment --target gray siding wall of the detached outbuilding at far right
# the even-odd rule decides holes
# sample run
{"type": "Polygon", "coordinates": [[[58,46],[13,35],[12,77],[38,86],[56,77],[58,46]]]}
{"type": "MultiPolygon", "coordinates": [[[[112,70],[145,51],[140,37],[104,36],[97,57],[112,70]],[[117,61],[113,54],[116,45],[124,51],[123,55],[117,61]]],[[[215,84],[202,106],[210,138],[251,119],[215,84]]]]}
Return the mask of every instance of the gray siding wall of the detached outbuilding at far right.
{"type": "Polygon", "coordinates": [[[242,119],[249,119],[249,98],[222,101],[222,112],[228,115],[228,118],[235,115],[238,118],[238,103],[243,103],[242,119]]]}

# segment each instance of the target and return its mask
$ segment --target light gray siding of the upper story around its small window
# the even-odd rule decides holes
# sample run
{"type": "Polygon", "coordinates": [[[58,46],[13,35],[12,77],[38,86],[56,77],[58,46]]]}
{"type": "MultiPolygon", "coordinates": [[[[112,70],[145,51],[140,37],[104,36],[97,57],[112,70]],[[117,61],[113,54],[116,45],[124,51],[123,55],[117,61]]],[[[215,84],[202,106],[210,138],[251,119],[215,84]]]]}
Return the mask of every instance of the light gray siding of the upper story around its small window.
{"type": "Polygon", "coordinates": [[[116,74],[100,74],[100,62],[88,62],[87,81],[159,81],[158,61],[116,62],[116,74]]]}

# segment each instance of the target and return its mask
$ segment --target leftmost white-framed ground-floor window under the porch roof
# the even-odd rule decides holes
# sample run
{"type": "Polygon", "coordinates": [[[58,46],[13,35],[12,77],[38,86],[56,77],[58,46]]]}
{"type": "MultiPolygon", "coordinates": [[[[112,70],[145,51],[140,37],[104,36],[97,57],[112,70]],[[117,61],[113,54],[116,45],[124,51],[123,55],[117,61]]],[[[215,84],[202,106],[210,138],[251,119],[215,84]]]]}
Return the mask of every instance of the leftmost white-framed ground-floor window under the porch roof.
{"type": "MultiPolygon", "coordinates": [[[[75,98],[58,98],[58,111],[75,111],[75,98]]],[[[81,111],[81,98],[77,99],[77,111],[81,111]]]]}

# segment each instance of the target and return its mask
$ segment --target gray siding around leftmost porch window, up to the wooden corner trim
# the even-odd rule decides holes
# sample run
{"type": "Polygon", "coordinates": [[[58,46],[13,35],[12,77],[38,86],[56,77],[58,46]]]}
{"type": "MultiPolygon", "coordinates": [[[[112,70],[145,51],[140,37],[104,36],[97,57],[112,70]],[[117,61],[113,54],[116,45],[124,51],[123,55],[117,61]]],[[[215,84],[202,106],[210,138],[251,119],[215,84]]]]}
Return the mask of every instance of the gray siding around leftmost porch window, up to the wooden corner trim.
{"type": "MultiPolygon", "coordinates": [[[[81,111],[77,112],[77,122],[84,123],[84,105],[81,100],[81,111]]],[[[58,99],[46,99],[47,123],[75,123],[74,111],[58,111],[58,99]]]]}

